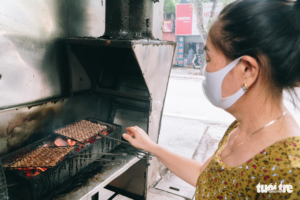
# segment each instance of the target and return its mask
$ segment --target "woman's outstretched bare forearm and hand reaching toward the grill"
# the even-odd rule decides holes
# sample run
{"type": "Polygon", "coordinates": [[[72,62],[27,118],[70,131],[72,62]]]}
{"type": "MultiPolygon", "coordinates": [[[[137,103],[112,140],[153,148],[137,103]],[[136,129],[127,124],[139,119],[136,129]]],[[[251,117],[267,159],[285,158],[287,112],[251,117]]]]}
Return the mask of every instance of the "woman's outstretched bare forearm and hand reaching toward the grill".
{"type": "Polygon", "coordinates": [[[159,146],[138,126],[128,127],[126,130],[127,134],[123,134],[124,139],[136,148],[153,153],[166,168],[180,177],[183,181],[196,187],[199,174],[205,169],[211,158],[205,163],[188,159],[159,146]]]}

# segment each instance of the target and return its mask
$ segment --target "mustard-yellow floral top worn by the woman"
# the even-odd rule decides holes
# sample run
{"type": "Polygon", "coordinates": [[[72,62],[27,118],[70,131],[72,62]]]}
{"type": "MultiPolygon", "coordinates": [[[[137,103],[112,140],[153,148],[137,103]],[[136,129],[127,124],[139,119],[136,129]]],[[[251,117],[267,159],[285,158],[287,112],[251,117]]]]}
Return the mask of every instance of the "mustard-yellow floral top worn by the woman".
{"type": "Polygon", "coordinates": [[[233,122],[211,162],[200,174],[196,199],[300,199],[300,137],[274,143],[238,167],[220,157],[233,122]]]}

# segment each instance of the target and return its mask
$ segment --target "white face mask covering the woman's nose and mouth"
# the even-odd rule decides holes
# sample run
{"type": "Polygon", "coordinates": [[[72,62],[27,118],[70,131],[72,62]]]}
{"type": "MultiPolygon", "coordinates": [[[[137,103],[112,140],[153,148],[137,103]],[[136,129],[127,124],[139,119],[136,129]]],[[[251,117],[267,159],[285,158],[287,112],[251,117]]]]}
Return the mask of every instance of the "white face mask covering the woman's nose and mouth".
{"type": "Polygon", "coordinates": [[[222,98],[222,82],[225,76],[237,65],[242,57],[232,61],[225,68],[219,70],[217,72],[207,72],[206,65],[204,66],[203,75],[205,76],[205,80],[202,82],[202,88],[205,97],[210,101],[213,105],[226,109],[237,102],[244,94],[245,90],[241,88],[237,93],[222,98]]]}

